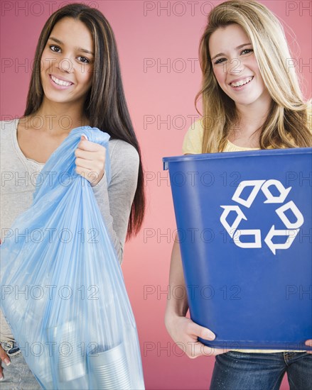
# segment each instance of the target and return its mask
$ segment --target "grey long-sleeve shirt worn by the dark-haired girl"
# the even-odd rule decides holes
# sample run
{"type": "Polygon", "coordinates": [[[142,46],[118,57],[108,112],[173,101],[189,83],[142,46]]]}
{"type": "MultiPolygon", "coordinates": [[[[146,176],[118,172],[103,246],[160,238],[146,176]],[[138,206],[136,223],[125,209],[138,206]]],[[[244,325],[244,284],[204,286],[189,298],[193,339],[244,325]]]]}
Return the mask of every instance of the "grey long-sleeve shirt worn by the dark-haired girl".
{"type": "MultiPolygon", "coordinates": [[[[12,223],[32,204],[36,176],[44,164],[26,158],[16,136],[18,119],[0,121],[0,228],[1,242],[12,223]]],[[[139,155],[136,149],[122,140],[109,141],[112,179],[107,186],[104,175],[92,189],[105,225],[122,262],[124,241],[131,204],[136,191],[139,155]]],[[[0,259],[1,262],[5,259],[0,259]]],[[[0,311],[0,340],[14,340],[11,329],[0,311]]]]}

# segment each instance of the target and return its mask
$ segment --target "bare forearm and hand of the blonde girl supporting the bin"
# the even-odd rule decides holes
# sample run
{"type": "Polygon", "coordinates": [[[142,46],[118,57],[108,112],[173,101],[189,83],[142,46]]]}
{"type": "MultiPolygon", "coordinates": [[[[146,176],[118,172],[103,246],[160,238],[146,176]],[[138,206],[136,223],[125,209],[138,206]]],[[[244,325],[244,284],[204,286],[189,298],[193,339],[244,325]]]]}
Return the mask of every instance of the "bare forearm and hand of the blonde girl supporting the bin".
{"type": "Polygon", "coordinates": [[[214,333],[208,328],[204,328],[194,323],[190,318],[185,317],[188,311],[188,299],[186,294],[183,294],[183,299],[174,296],[175,286],[183,286],[185,289],[185,281],[183,275],[183,267],[181,260],[180,245],[175,240],[171,253],[171,264],[169,274],[169,288],[165,324],[169,335],[174,342],[188,355],[190,358],[195,358],[200,355],[219,355],[227,352],[226,350],[207,347],[198,341],[198,337],[205,340],[214,340],[214,333]]]}

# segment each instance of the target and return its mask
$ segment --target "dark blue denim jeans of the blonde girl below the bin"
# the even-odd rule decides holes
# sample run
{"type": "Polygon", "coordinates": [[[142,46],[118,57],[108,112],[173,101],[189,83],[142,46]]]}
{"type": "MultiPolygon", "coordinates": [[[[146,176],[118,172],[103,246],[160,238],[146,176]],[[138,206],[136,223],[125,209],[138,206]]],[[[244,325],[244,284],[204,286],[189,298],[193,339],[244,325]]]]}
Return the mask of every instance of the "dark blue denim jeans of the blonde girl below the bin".
{"type": "Polygon", "coordinates": [[[312,390],[312,355],[306,352],[230,351],[215,357],[210,390],[278,390],[285,372],[290,390],[312,390]]]}

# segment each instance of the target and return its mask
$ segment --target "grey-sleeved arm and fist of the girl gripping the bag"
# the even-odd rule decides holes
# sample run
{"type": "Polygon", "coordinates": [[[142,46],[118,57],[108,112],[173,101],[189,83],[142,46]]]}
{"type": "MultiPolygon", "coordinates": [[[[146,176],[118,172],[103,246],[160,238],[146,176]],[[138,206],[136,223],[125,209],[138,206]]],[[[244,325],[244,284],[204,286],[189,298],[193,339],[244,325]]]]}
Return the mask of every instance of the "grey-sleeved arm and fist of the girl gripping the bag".
{"type": "Polygon", "coordinates": [[[81,140],[75,150],[76,172],[91,184],[109,237],[122,262],[124,241],[139,174],[139,154],[122,140],[109,141],[111,181],[104,172],[106,150],[102,145],[81,140]]]}

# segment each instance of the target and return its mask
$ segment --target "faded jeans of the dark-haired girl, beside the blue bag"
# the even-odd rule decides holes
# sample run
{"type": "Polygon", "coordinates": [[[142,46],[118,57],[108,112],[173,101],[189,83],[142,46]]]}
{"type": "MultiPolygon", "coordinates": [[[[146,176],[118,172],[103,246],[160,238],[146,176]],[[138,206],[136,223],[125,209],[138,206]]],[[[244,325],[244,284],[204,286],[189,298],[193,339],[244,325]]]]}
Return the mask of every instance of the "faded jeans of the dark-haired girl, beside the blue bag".
{"type": "Polygon", "coordinates": [[[1,364],[4,379],[0,381],[0,390],[41,390],[16,343],[1,342],[1,345],[10,357],[11,364],[1,364]]]}

